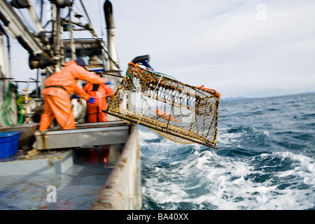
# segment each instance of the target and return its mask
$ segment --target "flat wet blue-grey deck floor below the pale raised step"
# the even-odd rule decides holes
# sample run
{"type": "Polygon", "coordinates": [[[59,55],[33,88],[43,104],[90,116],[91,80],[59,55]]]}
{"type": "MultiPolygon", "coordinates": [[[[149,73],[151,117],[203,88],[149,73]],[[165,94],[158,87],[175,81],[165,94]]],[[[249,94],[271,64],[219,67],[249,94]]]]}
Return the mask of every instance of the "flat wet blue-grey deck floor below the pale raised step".
{"type": "Polygon", "coordinates": [[[0,209],[90,209],[114,163],[91,148],[73,152],[73,165],[62,172],[0,176],[0,209]]]}

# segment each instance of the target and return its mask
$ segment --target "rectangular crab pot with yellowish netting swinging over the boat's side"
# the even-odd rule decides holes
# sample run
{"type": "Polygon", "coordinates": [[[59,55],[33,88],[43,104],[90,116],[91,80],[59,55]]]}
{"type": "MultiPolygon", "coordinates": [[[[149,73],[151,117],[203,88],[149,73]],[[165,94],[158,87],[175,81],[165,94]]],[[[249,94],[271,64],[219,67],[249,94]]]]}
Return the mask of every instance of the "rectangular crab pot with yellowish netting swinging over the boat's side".
{"type": "Polygon", "coordinates": [[[220,94],[129,64],[106,113],[181,144],[216,148],[220,94]]]}

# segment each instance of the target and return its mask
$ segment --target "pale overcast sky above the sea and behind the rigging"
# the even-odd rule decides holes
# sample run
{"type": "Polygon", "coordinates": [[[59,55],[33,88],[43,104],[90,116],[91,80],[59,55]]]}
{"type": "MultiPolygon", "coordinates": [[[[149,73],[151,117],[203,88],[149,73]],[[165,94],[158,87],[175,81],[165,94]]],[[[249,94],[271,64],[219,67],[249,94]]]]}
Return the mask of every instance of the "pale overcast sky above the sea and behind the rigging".
{"type": "MultiPolygon", "coordinates": [[[[97,34],[102,36],[103,28],[106,37],[104,1],[83,2],[97,34]]],[[[134,57],[151,55],[155,71],[217,90],[223,98],[315,91],[314,0],[111,3],[123,71],[134,57]]],[[[22,59],[26,50],[13,48],[12,57],[19,58],[13,76],[27,80],[22,76],[28,69],[22,59]]]]}

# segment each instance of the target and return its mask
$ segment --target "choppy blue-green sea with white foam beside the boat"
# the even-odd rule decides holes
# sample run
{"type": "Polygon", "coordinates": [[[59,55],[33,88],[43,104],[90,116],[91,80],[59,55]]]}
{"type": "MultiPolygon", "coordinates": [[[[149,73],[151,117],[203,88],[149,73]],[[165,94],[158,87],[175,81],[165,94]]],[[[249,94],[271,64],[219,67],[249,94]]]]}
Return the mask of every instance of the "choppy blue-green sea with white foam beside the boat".
{"type": "Polygon", "coordinates": [[[315,93],[221,100],[219,150],[139,126],[143,209],[315,209],[315,93]]]}

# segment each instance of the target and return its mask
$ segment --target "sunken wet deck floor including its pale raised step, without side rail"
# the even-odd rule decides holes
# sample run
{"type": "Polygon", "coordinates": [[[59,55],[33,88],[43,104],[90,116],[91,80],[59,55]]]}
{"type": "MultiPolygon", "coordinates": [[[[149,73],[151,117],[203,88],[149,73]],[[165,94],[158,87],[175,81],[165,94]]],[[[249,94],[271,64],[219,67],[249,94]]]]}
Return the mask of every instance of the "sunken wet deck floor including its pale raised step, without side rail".
{"type": "Polygon", "coordinates": [[[113,155],[105,163],[100,148],[1,162],[0,209],[91,209],[115,163],[113,155]]]}

